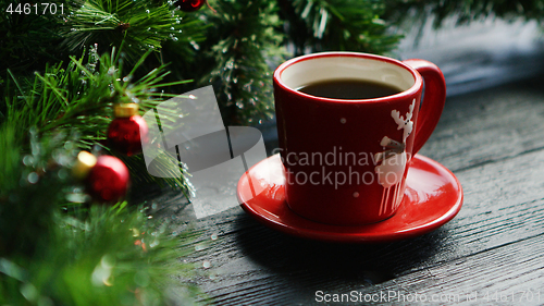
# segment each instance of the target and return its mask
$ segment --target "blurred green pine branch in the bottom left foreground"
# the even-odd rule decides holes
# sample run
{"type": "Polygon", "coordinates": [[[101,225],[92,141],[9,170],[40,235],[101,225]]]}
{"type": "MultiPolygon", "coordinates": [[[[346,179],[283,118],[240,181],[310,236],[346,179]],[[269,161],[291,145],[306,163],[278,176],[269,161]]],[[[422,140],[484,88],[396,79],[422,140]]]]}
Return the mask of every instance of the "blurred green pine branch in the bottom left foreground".
{"type": "Polygon", "coordinates": [[[186,233],[172,236],[123,205],[92,206],[85,216],[57,211],[49,220],[49,232],[34,233],[39,252],[0,256],[0,304],[168,305],[174,289],[188,301],[200,295],[178,281],[195,273],[178,260],[194,249],[186,233]]]}

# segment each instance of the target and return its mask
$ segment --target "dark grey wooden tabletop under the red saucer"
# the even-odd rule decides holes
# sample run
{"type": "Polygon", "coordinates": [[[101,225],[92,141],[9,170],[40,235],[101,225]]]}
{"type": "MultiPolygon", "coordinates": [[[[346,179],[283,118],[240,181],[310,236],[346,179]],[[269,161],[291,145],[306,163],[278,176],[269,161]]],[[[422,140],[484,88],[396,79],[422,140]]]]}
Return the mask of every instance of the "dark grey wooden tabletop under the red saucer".
{"type": "Polygon", "coordinates": [[[543,305],[543,84],[541,76],[447,99],[420,154],[455,173],[463,207],[416,238],[323,243],[268,229],[239,207],[195,220],[181,196],[154,201],[180,230],[201,231],[188,260],[209,303],[543,305]],[[333,303],[342,294],[374,302],[333,303]]]}

